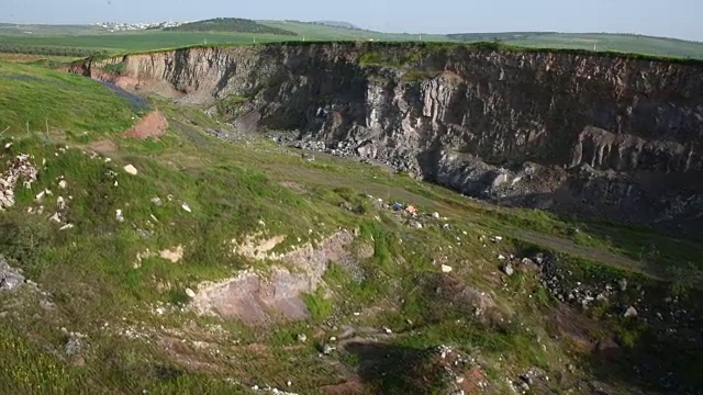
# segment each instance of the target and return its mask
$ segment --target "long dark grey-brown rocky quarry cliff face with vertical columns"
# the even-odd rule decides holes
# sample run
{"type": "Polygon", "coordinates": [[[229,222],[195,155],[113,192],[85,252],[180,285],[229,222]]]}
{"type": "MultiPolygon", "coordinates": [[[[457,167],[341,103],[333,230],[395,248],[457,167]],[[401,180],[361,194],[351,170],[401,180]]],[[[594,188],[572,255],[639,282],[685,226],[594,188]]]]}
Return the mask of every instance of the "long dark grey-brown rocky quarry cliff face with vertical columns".
{"type": "Polygon", "coordinates": [[[505,204],[650,224],[703,213],[701,64],[369,43],[191,48],[72,70],[505,204]]]}

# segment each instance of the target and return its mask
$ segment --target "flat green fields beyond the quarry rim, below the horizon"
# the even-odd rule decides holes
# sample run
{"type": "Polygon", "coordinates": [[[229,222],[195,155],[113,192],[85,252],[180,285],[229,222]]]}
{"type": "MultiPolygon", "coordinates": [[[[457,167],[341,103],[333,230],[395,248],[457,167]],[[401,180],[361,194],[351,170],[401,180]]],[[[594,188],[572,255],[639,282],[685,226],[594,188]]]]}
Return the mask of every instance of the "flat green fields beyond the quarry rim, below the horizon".
{"type": "Polygon", "coordinates": [[[0,25],[0,53],[89,56],[178,48],[202,44],[254,44],[288,41],[427,41],[501,43],[531,48],[574,48],[703,59],[703,43],[628,34],[381,33],[293,21],[258,21],[297,35],[238,32],[138,31],[107,33],[94,26],[0,25]],[[26,32],[32,32],[29,34],[26,32]]]}

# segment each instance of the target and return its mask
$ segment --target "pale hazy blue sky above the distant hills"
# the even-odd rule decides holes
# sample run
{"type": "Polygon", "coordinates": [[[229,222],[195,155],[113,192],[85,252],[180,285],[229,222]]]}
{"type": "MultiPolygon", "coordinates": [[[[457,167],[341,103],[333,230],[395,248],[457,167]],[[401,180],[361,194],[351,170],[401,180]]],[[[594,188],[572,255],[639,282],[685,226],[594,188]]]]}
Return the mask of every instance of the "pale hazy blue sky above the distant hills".
{"type": "Polygon", "coordinates": [[[383,32],[637,33],[703,41],[703,0],[0,0],[0,22],[345,21],[383,32]],[[9,3],[9,4],[8,4],[9,3]]]}

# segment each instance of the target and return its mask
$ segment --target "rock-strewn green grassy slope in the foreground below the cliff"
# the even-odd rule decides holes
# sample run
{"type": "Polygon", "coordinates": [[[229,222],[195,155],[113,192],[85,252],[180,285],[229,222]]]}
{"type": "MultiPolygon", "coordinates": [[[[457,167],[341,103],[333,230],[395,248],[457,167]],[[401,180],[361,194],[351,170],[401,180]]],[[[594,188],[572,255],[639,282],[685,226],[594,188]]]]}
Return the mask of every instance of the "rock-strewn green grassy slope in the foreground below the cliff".
{"type": "MultiPolygon", "coordinates": [[[[47,84],[76,97],[96,94],[96,105],[116,101],[91,81],[26,67],[3,69],[12,70],[10,75],[45,79],[35,86],[13,84],[18,101],[35,101],[35,94],[47,84]]],[[[45,108],[56,108],[53,111],[60,113],[67,111],[64,105],[65,102],[48,102],[45,108]]],[[[268,142],[222,143],[201,131],[224,126],[199,111],[172,108],[158,100],[154,105],[169,117],[168,134],[158,142],[113,136],[118,149],[107,154],[110,162],[91,159],[83,153],[85,139],[77,142],[62,131],[42,138],[15,138],[2,151],[2,162],[20,153],[34,155],[36,163],[47,159],[37,184],[30,191],[18,189],[18,206],[0,213],[0,244],[11,264],[24,269],[25,275],[40,283],[56,304],[54,309],[43,309],[30,294],[24,304],[12,307],[20,296],[0,294],[3,309],[11,314],[11,318],[0,321],[3,393],[27,393],[30,388],[33,393],[227,393],[233,390],[233,384],[225,382],[227,377],[241,383],[234,384],[237,391],[254,384],[287,388],[290,380],[292,391],[315,393],[320,386],[335,384],[339,379],[333,364],[319,357],[312,340],[337,335],[330,328],[344,325],[390,326],[400,334],[389,340],[393,347],[457,347],[486,361],[489,374],[501,383],[505,376],[515,377],[532,366],[559,372],[565,361],[577,357],[568,356],[569,349],[546,332],[546,308],[553,302],[526,276],[503,283],[495,257],[510,251],[520,253],[523,246],[532,245],[529,238],[521,236],[525,230],[545,236],[547,245],[555,240],[551,237],[560,237],[560,246],[572,249],[558,249],[577,255],[577,246],[627,255],[637,253],[639,248],[637,239],[623,237],[620,229],[602,224],[583,226],[535,211],[495,208],[361,163],[324,156],[309,162],[268,142]],[[70,149],[63,153],[59,147],[67,143],[70,149]],[[122,166],[126,163],[134,165],[140,173],[124,173],[122,166]],[[118,185],[107,176],[110,170],[118,173],[118,185]],[[68,182],[65,192],[56,188],[60,176],[68,182]],[[295,187],[290,188],[291,183],[295,187]],[[27,207],[37,206],[36,191],[43,189],[54,190],[54,195],[42,203],[45,214],[27,215],[27,207]],[[58,232],[47,221],[57,193],[72,196],[66,218],[76,225],[74,229],[58,232]],[[174,196],[171,202],[166,199],[169,194],[174,196]],[[450,218],[454,230],[445,232],[438,226],[412,230],[390,212],[375,208],[366,194],[411,203],[426,212],[438,211],[450,218]],[[152,204],[154,196],[160,196],[164,205],[152,204]],[[339,208],[344,201],[365,205],[366,213],[339,208]],[[192,213],[185,212],[181,202],[187,202],[192,213]],[[115,210],[123,210],[124,223],[115,221],[115,210]],[[231,256],[224,246],[227,240],[257,229],[259,219],[271,234],[290,235],[289,240],[301,237],[302,241],[320,239],[339,226],[359,227],[359,242],[375,246],[375,256],[361,262],[365,280],[331,270],[326,282],[333,290],[334,303],[316,301],[320,295],[311,296],[311,304],[317,307],[310,321],[267,330],[253,331],[236,321],[196,317],[177,308],[165,315],[152,313],[158,303],[171,308],[186,301],[187,286],[248,267],[250,262],[231,256]],[[570,233],[574,226],[582,228],[578,236],[570,233]],[[142,237],[137,229],[149,230],[148,237],[142,237]],[[479,236],[495,234],[505,236],[505,242],[483,247],[479,236]],[[615,236],[620,237],[605,241],[615,236]],[[137,252],[178,245],[186,249],[181,263],[150,258],[140,269],[134,268],[137,252]],[[438,272],[433,260],[443,257],[451,262],[454,278],[492,293],[501,306],[514,314],[514,320],[491,327],[471,318],[471,313],[460,305],[438,300],[434,287],[420,287],[420,281],[438,272]],[[356,312],[361,315],[353,314],[356,312]],[[224,335],[209,334],[213,325],[224,328],[224,335]],[[66,361],[62,327],[89,336],[85,365],[66,361]],[[115,335],[125,329],[146,337],[125,339],[115,335]],[[300,332],[308,334],[311,341],[299,345],[295,337],[300,332]],[[174,356],[168,353],[172,349],[158,342],[167,336],[179,341],[205,341],[219,352],[194,348],[187,341],[180,348],[181,354],[174,356]]],[[[29,116],[23,109],[15,108],[20,119],[29,116]]],[[[86,114],[67,120],[65,127],[82,127],[81,116],[86,114]]],[[[110,137],[104,132],[116,126],[115,121],[102,112],[94,116],[92,124],[109,127],[89,137],[110,137]]],[[[647,234],[646,238],[660,246],[661,256],[667,256],[669,249],[679,250],[677,260],[669,264],[685,267],[685,259],[701,253],[699,244],[685,244],[682,249],[655,234],[647,234]]],[[[576,262],[580,268],[600,268],[592,260],[576,262]]],[[[618,267],[620,262],[610,262],[607,272],[614,272],[615,279],[631,275],[633,268],[618,267]]],[[[347,354],[332,359],[350,368],[361,362],[347,354]]],[[[398,391],[399,385],[394,380],[402,379],[370,380],[369,393],[393,393],[392,388],[398,391]]]]}

